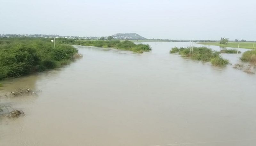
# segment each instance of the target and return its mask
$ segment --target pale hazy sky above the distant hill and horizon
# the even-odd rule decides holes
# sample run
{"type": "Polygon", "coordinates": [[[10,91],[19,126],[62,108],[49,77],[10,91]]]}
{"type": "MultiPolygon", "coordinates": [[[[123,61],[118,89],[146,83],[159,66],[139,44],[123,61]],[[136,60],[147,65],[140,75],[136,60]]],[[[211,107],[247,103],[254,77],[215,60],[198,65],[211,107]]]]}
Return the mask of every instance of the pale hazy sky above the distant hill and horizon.
{"type": "Polygon", "coordinates": [[[0,0],[0,34],[256,40],[256,0],[0,0]]]}

